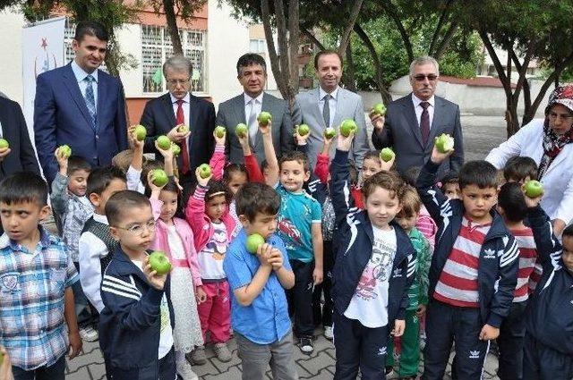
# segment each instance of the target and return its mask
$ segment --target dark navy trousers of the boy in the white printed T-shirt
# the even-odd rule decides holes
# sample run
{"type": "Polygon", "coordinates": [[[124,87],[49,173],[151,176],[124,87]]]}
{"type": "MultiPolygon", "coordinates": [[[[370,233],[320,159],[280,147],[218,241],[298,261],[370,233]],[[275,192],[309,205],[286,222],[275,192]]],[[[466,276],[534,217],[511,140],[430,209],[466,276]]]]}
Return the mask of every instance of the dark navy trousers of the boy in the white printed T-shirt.
{"type": "Polygon", "coordinates": [[[335,380],[355,380],[358,369],[363,380],[386,378],[384,365],[388,351],[388,325],[378,328],[363,326],[336,310],[334,347],[337,354],[335,380]]]}

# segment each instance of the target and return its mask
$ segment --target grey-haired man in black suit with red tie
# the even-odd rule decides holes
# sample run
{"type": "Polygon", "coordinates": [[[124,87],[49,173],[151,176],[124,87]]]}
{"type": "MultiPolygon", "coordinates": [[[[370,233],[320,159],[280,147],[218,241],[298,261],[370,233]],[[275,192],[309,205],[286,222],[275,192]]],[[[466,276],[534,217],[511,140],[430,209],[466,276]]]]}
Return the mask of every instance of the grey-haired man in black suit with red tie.
{"type": "MultiPolygon", "coordinates": [[[[163,75],[169,92],[150,100],[141,115],[141,125],[147,129],[144,151],[158,153],[155,139],[167,135],[179,144],[177,158],[181,185],[196,182],[197,166],[209,163],[215,148],[215,107],[201,97],[191,95],[192,63],[183,55],[175,55],[163,64],[163,75]],[[177,126],[189,126],[189,132],[178,131],[177,126]]],[[[159,154],[156,156],[160,157],[159,154]]]]}

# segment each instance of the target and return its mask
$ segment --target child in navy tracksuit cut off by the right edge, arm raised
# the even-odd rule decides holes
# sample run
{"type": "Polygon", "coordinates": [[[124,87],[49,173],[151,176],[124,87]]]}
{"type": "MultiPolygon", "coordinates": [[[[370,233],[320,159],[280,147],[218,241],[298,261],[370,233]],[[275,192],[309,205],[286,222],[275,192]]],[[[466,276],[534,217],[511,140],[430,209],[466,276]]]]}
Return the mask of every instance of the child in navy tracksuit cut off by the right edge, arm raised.
{"type": "Polygon", "coordinates": [[[541,197],[526,198],[543,275],[526,308],[524,380],[573,378],[573,225],[562,243],[539,207],[541,197]]]}

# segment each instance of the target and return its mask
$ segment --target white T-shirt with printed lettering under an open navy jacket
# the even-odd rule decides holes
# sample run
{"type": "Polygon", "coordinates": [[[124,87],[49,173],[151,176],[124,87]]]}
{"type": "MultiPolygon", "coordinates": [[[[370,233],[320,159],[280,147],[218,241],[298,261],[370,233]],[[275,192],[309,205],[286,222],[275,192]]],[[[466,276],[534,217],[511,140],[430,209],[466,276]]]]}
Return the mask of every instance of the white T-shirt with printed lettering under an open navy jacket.
{"type": "Polygon", "coordinates": [[[388,325],[388,288],[396,256],[396,231],[381,230],[372,225],[372,256],[364,267],[355,295],[344,312],[366,327],[388,325]]]}

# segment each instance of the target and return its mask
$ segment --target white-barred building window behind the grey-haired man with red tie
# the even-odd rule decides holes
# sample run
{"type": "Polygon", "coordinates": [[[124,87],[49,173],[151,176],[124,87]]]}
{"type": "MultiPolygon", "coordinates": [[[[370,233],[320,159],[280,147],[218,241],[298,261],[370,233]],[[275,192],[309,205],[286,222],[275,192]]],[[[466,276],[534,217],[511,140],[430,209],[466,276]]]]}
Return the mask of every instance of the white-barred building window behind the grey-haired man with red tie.
{"type": "MultiPolygon", "coordinates": [[[[179,30],[184,55],[192,62],[191,90],[205,92],[206,35],[201,30],[179,30]]],[[[165,92],[166,83],[161,68],[173,56],[173,44],[167,28],[141,25],[141,72],[143,92],[165,92]]]]}

